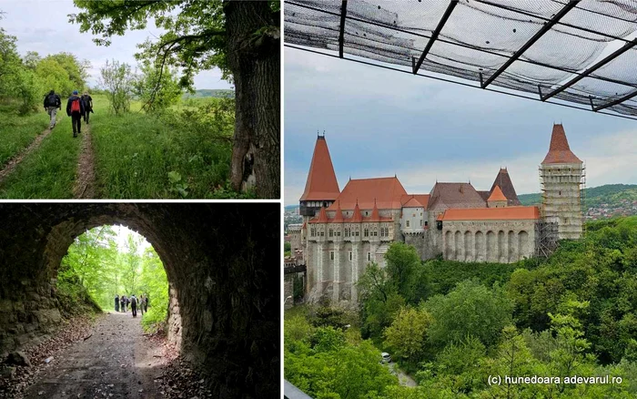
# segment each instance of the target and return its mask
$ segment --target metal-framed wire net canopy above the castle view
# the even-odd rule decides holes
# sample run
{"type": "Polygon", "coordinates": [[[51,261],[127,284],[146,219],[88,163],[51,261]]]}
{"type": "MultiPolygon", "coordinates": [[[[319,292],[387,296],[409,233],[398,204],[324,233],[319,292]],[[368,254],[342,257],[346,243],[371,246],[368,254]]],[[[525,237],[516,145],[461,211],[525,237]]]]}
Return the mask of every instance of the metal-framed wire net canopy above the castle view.
{"type": "Polygon", "coordinates": [[[286,46],[637,117],[637,1],[292,0],[284,28],[286,46]]]}

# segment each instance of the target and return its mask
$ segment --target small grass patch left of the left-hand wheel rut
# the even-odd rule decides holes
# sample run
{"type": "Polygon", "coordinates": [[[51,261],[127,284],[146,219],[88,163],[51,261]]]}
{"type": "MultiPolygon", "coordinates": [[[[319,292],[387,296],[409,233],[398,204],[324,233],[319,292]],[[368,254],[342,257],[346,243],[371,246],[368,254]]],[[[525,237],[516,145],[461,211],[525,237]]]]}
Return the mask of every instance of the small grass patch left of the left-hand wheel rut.
{"type": "Polygon", "coordinates": [[[20,117],[15,113],[0,113],[0,168],[48,126],[45,112],[20,117]]]}

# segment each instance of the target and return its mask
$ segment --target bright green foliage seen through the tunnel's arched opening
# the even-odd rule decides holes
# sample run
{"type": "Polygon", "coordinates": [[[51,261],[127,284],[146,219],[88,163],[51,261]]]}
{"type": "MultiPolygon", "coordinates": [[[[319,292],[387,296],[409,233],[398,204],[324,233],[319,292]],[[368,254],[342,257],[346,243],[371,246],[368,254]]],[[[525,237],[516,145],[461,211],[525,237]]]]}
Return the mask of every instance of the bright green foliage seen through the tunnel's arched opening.
{"type": "Polygon", "coordinates": [[[167,317],[164,265],[144,237],[122,227],[102,226],[76,238],[60,265],[57,293],[67,313],[87,312],[87,298],[114,312],[116,294],[139,298],[146,293],[144,326],[159,328],[167,317]]]}

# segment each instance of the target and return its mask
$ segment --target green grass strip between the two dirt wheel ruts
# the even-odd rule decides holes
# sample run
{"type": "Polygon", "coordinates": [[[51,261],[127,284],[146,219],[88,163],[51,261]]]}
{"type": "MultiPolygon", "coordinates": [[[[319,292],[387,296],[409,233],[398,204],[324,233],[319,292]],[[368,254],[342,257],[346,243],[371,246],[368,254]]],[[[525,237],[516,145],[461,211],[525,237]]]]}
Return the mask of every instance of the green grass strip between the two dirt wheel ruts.
{"type": "Polygon", "coordinates": [[[65,115],[40,147],[5,179],[0,186],[0,198],[72,198],[80,142],[81,138],[73,138],[71,118],[65,115]]]}

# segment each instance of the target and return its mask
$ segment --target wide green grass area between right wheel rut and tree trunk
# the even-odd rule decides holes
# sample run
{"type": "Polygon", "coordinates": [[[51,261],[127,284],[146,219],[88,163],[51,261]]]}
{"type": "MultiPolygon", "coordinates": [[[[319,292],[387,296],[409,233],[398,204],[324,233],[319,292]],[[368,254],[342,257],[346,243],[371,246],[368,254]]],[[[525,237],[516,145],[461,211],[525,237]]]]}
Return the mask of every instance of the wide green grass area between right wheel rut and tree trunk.
{"type": "MultiPolygon", "coordinates": [[[[102,101],[96,97],[96,109],[102,101]]],[[[91,118],[101,198],[200,199],[224,191],[230,144],[210,139],[212,132],[194,128],[195,121],[143,113],[116,117],[99,110],[91,118]]]]}

